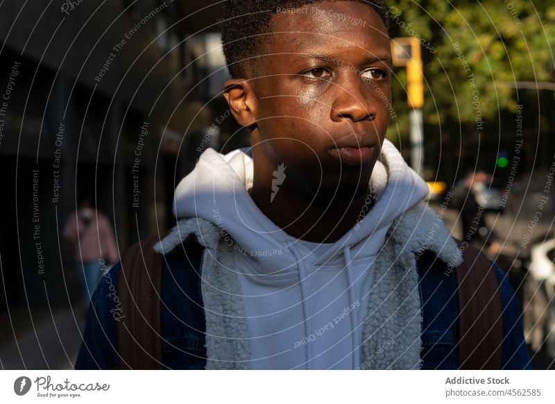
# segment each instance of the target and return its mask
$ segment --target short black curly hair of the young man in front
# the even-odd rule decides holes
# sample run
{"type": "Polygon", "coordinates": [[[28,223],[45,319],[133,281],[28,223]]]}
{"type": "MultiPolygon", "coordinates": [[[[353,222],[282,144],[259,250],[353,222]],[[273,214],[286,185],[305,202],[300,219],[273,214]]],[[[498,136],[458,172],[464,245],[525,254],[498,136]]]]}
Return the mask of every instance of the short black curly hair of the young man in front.
{"type": "MultiPolygon", "coordinates": [[[[330,0],[228,0],[223,5],[220,24],[223,54],[234,78],[248,78],[249,67],[261,51],[260,35],[269,32],[270,19],[283,8],[302,8],[306,4],[330,0]]],[[[389,31],[389,9],[386,0],[355,1],[377,12],[389,31]]]]}

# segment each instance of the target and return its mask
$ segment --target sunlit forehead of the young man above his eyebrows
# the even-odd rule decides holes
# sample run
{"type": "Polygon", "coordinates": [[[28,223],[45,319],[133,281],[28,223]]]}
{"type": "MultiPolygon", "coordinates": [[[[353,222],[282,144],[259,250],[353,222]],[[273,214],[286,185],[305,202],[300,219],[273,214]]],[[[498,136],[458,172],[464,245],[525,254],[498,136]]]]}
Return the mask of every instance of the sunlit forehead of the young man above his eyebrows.
{"type": "Polygon", "coordinates": [[[275,52],[338,47],[360,53],[389,51],[389,37],[382,19],[373,8],[355,1],[279,8],[271,18],[270,31],[266,45],[275,52]]]}

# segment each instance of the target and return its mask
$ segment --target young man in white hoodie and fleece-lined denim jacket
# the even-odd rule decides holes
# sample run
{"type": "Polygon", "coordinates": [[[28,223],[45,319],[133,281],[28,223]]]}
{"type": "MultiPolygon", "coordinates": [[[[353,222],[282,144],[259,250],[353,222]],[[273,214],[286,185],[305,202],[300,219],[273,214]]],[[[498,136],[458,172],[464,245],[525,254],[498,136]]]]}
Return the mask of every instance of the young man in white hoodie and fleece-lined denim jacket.
{"type": "MultiPolygon", "coordinates": [[[[176,190],[178,225],[155,246],[161,367],[459,368],[447,269],[461,254],[385,140],[385,3],[227,1],[222,39],[233,77],[223,95],[252,147],[208,149],[176,190]]],[[[522,369],[518,307],[496,271],[501,367],[522,369]]],[[[117,284],[119,267],[111,274],[117,284]]],[[[124,362],[106,292],[78,368],[124,362]]]]}

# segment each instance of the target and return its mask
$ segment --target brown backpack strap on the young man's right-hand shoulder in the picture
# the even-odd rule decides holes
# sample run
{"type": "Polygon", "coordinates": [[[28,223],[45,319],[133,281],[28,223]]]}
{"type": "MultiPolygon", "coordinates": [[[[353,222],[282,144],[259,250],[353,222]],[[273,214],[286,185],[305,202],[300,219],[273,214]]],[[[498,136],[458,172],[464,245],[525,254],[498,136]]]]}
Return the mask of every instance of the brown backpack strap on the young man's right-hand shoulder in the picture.
{"type": "Polygon", "coordinates": [[[464,262],[456,269],[461,369],[501,369],[503,316],[493,263],[471,246],[461,251],[464,262]]]}

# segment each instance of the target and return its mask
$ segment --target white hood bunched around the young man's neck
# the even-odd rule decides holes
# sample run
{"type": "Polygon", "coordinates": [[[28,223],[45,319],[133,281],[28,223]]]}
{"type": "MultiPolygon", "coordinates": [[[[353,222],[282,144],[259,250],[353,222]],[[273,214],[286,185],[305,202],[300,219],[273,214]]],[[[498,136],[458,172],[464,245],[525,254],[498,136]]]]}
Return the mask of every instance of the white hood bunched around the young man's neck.
{"type": "MultiPolygon", "coordinates": [[[[228,246],[257,261],[255,267],[258,271],[296,271],[298,253],[291,251],[293,246],[296,243],[305,247],[318,244],[299,242],[259,210],[248,194],[253,185],[253,170],[253,158],[248,149],[226,155],[207,149],[194,171],[178,185],[173,212],[178,219],[200,217],[212,222],[228,246]]],[[[391,226],[396,218],[422,201],[428,193],[424,180],[404,162],[388,140],[384,141],[370,185],[376,197],[373,208],[337,242],[318,247],[318,255],[314,255],[315,265],[343,262],[347,249],[353,257],[361,251],[365,256],[375,255],[383,244],[384,232],[378,230],[391,226]],[[372,242],[376,233],[381,234],[382,240],[372,242]]]]}

